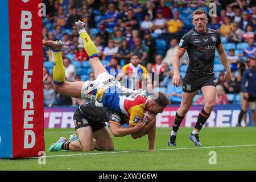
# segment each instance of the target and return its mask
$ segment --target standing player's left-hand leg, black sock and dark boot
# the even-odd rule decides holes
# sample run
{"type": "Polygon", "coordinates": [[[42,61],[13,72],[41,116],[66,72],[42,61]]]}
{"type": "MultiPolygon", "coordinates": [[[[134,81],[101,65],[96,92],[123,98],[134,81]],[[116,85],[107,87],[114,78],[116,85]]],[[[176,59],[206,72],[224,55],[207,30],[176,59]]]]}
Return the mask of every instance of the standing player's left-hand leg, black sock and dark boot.
{"type": "Polygon", "coordinates": [[[182,100],[179,109],[177,110],[174,118],[174,124],[170,138],[168,140],[168,146],[176,146],[176,135],[179,130],[180,124],[183,121],[185,114],[193,104],[193,98],[196,96],[197,90],[192,93],[182,92],[182,100]]]}

